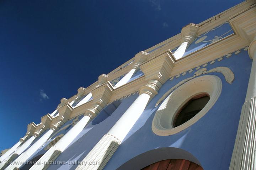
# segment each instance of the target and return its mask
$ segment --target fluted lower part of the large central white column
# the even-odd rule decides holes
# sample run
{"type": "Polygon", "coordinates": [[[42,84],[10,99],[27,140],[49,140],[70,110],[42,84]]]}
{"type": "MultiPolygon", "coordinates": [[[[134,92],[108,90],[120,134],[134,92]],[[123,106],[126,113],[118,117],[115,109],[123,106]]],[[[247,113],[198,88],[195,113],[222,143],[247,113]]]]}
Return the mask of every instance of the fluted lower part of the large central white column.
{"type": "Polygon", "coordinates": [[[102,170],[120,144],[115,136],[104,135],[75,170],[102,170]]]}

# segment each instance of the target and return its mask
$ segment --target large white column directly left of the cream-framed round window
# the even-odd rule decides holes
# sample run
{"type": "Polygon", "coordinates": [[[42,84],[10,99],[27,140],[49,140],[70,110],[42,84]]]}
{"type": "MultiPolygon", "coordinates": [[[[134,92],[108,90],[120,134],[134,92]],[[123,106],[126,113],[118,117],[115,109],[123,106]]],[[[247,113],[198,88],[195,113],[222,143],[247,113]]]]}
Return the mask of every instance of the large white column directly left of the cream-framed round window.
{"type": "Polygon", "coordinates": [[[160,81],[151,80],[140,89],[140,95],[127,109],[117,123],[104,135],[86,155],[83,162],[100,162],[100,165],[78,165],[76,170],[101,170],[112,157],[124,137],[132,129],[145,107],[162,86],[160,81]]]}

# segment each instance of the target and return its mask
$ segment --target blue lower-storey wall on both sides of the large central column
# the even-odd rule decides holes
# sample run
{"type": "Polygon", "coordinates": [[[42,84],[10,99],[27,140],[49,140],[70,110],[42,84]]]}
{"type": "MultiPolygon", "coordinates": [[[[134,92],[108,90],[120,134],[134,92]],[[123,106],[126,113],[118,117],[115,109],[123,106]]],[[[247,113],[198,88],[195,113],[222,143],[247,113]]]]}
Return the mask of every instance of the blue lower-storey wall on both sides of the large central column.
{"type": "MultiPolygon", "coordinates": [[[[229,167],[236,131],[238,128],[241,107],[245,100],[247,83],[249,81],[251,63],[247,51],[243,49],[238,54],[232,53],[229,58],[223,57],[206,68],[228,67],[235,75],[232,84],[225,81],[221,73],[210,73],[220,77],[223,83],[222,93],[214,106],[200,120],[189,128],[170,136],[155,135],[151,129],[152,120],[158,107],[155,107],[159,98],[178,82],[193,76],[187,73],[184,76],[167,80],[153,100],[145,108],[141,117],[135,123],[122,144],[104,170],[117,169],[139,154],[156,148],[180,148],[196,157],[206,170],[226,170],[229,167]]],[[[56,160],[82,160],[106,134],[127,108],[138,97],[138,94],[124,98],[116,110],[100,123],[92,121],[79,134],[69,147],[56,160]]],[[[41,154],[41,153],[37,153],[41,154]]],[[[138,160],[139,161],[139,160],[138,160]]],[[[153,163],[153,162],[152,162],[153,163]]],[[[49,170],[75,169],[76,165],[51,165],[49,170]]]]}

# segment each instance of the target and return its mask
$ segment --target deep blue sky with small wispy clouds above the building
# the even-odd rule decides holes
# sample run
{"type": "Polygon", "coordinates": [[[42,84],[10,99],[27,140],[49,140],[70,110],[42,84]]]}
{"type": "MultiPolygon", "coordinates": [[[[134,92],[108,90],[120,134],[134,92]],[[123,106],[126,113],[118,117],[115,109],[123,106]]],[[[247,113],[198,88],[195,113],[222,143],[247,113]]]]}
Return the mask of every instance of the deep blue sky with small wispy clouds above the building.
{"type": "Polygon", "coordinates": [[[241,0],[2,0],[0,150],[62,97],[241,0]]]}

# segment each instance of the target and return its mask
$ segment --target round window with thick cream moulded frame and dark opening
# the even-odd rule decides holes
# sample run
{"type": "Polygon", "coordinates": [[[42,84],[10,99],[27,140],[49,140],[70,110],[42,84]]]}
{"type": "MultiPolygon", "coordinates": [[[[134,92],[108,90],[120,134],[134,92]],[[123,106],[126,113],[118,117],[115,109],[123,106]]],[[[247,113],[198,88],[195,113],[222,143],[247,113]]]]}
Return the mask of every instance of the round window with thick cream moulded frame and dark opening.
{"type": "Polygon", "coordinates": [[[205,115],[217,101],[222,82],[215,75],[194,78],[174,90],[159,106],[152,130],[160,136],[176,134],[205,115]]]}

